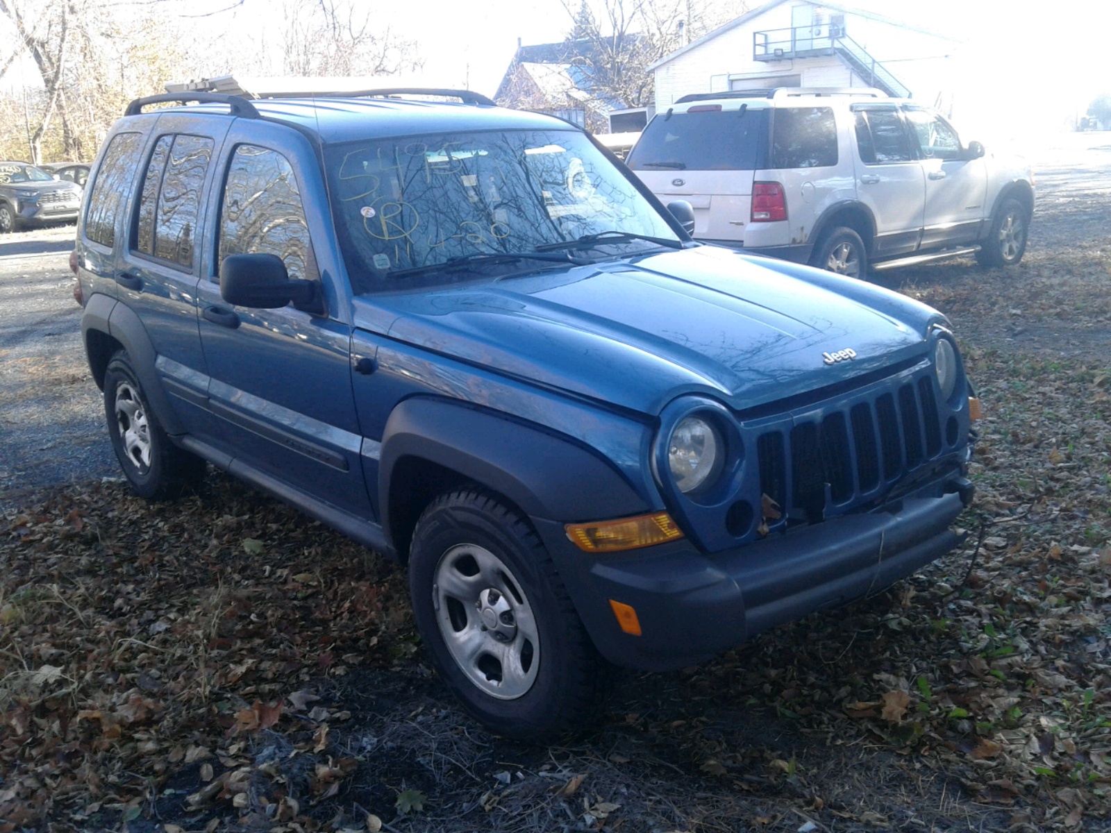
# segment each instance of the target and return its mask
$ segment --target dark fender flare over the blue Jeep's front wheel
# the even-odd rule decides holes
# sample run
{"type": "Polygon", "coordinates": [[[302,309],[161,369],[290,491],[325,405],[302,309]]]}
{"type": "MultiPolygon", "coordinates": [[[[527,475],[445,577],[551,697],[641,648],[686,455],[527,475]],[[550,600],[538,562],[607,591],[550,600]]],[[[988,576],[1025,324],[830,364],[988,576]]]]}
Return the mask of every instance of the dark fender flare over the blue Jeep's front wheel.
{"type": "Polygon", "coordinates": [[[481,483],[533,518],[590,521],[651,511],[615,469],[573,440],[506,414],[414,397],[393,409],[382,434],[378,493],[390,541],[393,471],[408,456],[481,483]]]}

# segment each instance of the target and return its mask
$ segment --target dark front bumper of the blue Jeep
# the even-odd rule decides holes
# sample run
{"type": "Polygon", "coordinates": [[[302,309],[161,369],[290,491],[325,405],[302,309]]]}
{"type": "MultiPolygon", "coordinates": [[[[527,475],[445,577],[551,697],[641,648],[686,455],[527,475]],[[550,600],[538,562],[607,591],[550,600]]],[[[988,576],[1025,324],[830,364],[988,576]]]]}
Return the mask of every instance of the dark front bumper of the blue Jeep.
{"type": "Polygon", "coordinates": [[[971,498],[971,484],[952,476],[882,510],[713,555],[685,540],[620,558],[589,555],[567,539],[562,523],[533,523],[602,655],[627,668],[665,671],[910,575],[959,543],[950,524],[971,498]],[[642,635],[621,631],[611,599],[635,609],[642,635]]]}

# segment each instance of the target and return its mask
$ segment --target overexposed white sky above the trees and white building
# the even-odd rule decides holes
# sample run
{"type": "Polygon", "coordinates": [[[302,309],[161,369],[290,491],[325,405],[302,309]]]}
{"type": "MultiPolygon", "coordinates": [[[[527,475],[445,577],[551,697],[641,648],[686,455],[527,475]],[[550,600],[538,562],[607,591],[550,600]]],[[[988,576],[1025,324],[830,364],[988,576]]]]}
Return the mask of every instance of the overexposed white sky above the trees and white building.
{"type": "MultiPolygon", "coordinates": [[[[220,1],[202,0],[213,8],[220,1]]],[[[1078,112],[1083,114],[1095,94],[1111,91],[1109,0],[852,0],[847,4],[959,39],[955,60],[964,80],[957,91],[954,118],[963,118],[974,132],[989,134],[985,138],[1059,131],[1078,112]]],[[[550,42],[562,39],[570,28],[560,0],[377,6],[383,26],[418,42],[430,81],[469,86],[487,94],[496,91],[518,38],[526,44],[550,42]]],[[[202,19],[198,26],[277,31],[280,12],[280,0],[243,0],[240,8],[202,19]]]]}

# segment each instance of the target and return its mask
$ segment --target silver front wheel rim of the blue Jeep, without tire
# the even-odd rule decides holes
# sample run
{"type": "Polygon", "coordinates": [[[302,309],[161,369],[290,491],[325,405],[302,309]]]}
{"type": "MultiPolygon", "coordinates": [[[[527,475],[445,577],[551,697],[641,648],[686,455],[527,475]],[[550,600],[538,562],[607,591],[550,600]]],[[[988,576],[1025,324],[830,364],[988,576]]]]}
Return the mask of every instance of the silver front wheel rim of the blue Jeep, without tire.
{"type": "Polygon", "coordinates": [[[506,563],[476,544],[448,550],[432,599],[451,658],[481,691],[499,700],[528,693],[540,669],[537,620],[506,563]]]}

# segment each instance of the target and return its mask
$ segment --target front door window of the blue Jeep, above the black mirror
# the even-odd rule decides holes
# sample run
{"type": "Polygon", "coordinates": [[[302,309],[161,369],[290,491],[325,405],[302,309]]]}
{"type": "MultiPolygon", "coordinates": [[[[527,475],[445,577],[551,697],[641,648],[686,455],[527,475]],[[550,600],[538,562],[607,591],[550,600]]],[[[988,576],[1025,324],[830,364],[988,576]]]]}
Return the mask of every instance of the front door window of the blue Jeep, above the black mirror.
{"type": "Polygon", "coordinates": [[[240,144],[223,187],[218,263],[229,254],[259,252],[281,258],[292,280],[316,271],[293,168],[281,153],[240,144]]]}

